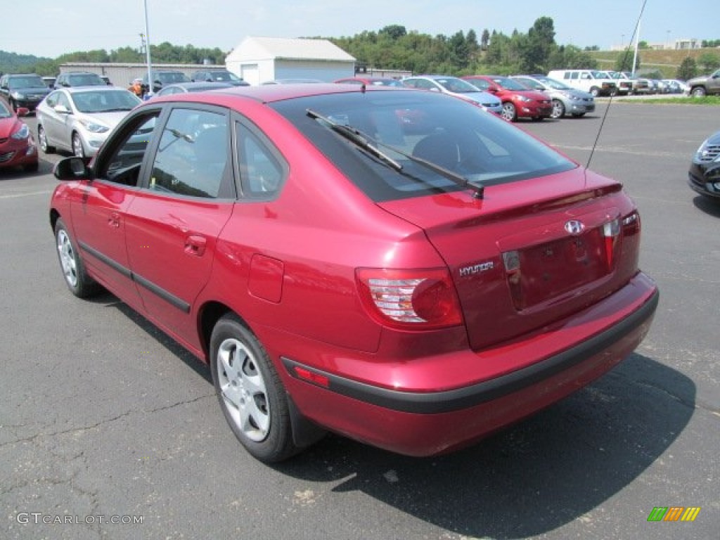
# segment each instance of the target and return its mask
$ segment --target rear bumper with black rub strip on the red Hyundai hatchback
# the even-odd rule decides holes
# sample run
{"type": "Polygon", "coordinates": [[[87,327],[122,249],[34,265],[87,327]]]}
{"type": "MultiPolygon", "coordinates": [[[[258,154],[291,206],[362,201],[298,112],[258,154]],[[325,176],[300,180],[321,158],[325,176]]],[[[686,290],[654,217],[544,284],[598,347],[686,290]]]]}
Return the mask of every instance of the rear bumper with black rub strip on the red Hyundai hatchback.
{"type": "MultiPolygon", "coordinates": [[[[649,330],[659,292],[643,274],[627,287],[634,291],[624,296],[635,300],[624,316],[591,336],[577,330],[573,343],[554,335],[540,336],[534,340],[537,343],[514,343],[500,354],[538,356],[538,351],[548,346],[555,351],[497,377],[448,390],[409,392],[358,382],[283,358],[290,377],[288,390],[304,415],[351,438],[411,456],[451,451],[579,390],[631,354],[649,330]],[[300,380],[297,367],[326,377],[328,387],[300,380]]],[[[584,327],[583,317],[605,318],[603,308],[593,310],[578,317],[577,328],[584,327]]],[[[476,363],[484,361],[472,351],[462,354],[474,355],[476,363]]],[[[418,366],[426,360],[418,361],[418,366]]],[[[406,369],[414,369],[412,361],[406,369]]]]}

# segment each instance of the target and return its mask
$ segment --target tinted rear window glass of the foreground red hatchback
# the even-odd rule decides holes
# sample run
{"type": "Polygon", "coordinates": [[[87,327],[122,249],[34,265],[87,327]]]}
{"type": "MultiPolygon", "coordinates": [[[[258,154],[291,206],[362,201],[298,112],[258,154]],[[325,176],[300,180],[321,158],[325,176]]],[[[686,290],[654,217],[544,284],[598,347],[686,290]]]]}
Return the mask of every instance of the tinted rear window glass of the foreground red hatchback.
{"type": "Polygon", "coordinates": [[[357,91],[289,99],[270,106],[377,202],[462,189],[403,154],[431,161],[485,186],[577,166],[495,114],[444,94],[357,91]],[[322,120],[313,120],[307,109],[384,143],[377,145],[379,150],[402,169],[397,171],[382,158],[359,149],[322,120]]]}

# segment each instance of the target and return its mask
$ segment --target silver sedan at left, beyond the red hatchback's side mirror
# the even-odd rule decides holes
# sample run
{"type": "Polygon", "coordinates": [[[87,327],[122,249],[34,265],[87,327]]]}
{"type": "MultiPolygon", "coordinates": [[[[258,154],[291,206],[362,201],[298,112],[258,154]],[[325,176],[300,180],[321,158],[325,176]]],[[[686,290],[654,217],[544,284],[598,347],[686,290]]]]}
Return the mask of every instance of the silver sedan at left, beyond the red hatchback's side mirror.
{"type": "Polygon", "coordinates": [[[97,153],[107,135],[142,103],[115,86],[73,86],[53,91],[37,106],[37,141],[43,153],[56,148],[81,158],[97,153]]]}

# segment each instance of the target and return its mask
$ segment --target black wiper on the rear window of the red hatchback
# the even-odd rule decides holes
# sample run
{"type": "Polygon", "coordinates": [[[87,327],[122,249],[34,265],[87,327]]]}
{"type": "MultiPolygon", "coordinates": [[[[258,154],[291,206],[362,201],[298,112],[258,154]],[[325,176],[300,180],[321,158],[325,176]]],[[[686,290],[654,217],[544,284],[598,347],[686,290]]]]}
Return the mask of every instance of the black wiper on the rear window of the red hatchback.
{"type": "Polygon", "coordinates": [[[423,167],[429,168],[431,171],[439,174],[440,176],[443,176],[448,180],[453,181],[455,184],[463,188],[471,189],[473,192],[472,197],[474,197],[475,199],[482,199],[482,197],[485,196],[485,186],[478,182],[474,182],[465,178],[464,176],[462,176],[462,174],[457,174],[453,171],[450,171],[449,169],[439,166],[432,161],[418,158],[417,156],[412,156],[411,154],[408,154],[404,150],[401,150],[400,148],[397,148],[393,145],[381,143],[379,140],[374,140],[372,137],[369,137],[369,135],[361,132],[356,127],[345,124],[338,124],[338,122],[330,120],[330,118],[325,117],[322,114],[313,111],[312,109],[307,109],[306,112],[307,116],[309,116],[310,118],[325,122],[325,124],[327,124],[331,130],[339,133],[347,140],[358,145],[360,148],[363,148],[369,153],[372,153],[372,155],[377,156],[378,158],[386,161],[387,163],[390,163],[392,168],[395,168],[395,170],[397,171],[402,171],[402,165],[400,165],[400,163],[397,163],[397,161],[392,159],[390,156],[387,156],[386,153],[377,148],[378,146],[382,146],[384,148],[387,148],[388,150],[392,150],[393,152],[400,154],[400,156],[408,158],[410,161],[413,161],[413,163],[419,163],[423,167]]]}

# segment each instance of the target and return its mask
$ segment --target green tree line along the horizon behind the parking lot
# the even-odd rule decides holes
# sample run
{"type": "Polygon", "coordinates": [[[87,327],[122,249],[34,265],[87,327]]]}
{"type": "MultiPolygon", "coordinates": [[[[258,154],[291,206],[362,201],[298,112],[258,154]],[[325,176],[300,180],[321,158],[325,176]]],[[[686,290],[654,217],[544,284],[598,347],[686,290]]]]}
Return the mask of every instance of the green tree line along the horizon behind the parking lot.
{"type": "MultiPolygon", "coordinates": [[[[320,36],[317,36],[320,37],[320,36]]],[[[551,17],[539,17],[527,32],[513,30],[503,32],[482,30],[480,36],[474,30],[458,31],[454,35],[422,34],[408,30],[400,24],[391,24],[377,32],[365,31],[352,37],[324,37],[354,56],[359,66],[381,69],[397,69],[412,73],[444,73],[446,75],[470,75],[473,73],[547,73],[552,69],[598,69],[598,61],[590,55],[597,46],[583,49],[575,45],[558,45],[555,42],[554,22],[551,17]]],[[[706,40],[703,44],[720,44],[720,40],[706,40]]],[[[163,42],[150,45],[153,63],[201,64],[205,60],[224,64],[229,51],[220,48],[184,47],[163,42]]],[[[642,51],[641,51],[642,53],[642,51]]],[[[60,64],[69,62],[89,63],[144,63],[145,53],[132,47],[111,50],[89,50],[58,56],[58,58],[28,58],[0,51],[0,71],[15,71],[18,62],[24,61],[24,71],[34,71],[42,76],[54,76],[60,64]],[[11,55],[8,58],[7,55],[11,55]],[[5,60],[14,60],[12,66],[5,60]]],[[[616,71],[631,71],[634,51],[626,50],[618,55],[616,71]]],[[[636,60],[636,69],[642,65],[636,60]]],[[[690,58],[678,68],[678,78],[690,78],[698,73],[714,71],[720,66],[720,58],[706,53],[698,60],[690,58]]]]}

